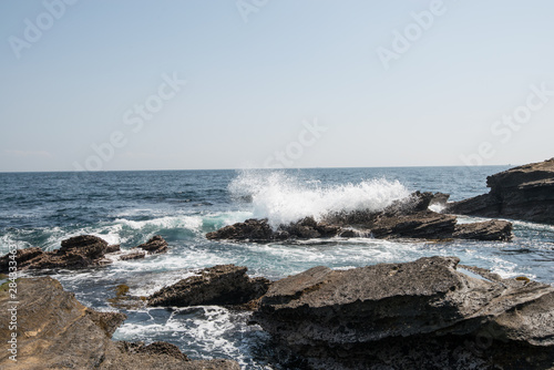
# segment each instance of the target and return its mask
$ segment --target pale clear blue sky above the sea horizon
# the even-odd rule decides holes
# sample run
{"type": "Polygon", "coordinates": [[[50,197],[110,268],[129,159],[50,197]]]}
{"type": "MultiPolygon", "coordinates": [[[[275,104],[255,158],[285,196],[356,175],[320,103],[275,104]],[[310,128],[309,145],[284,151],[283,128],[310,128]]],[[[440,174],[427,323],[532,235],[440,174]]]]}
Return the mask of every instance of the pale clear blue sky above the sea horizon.
{"type": "Polygon", "coordinates": [[[554,2],[6,0],[0,172],[554,156],[554,2]]]}

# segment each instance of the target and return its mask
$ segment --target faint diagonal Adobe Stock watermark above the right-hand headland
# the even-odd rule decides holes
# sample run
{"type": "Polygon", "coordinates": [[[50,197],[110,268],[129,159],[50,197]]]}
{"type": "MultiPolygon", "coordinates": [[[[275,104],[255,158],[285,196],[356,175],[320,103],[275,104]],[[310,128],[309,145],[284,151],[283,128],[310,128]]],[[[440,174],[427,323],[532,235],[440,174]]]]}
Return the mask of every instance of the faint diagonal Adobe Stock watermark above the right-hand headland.
{"type": "Polygon", "coordinates": [[[525,99],[525,103],[516,106],[510,114],[502,115],[501,119],[494,121],[491,125],[491,134],[494,141],[481,142],[475,152],[471,154],[460,155],[460,160],[465,166],[481,166],[488,160],[496,155],[497,145],[507,144],[513,137],[514,133],[524,127],[525,124],[531,122],[533,113],[542,110],[554,96],[554,90],[550,90],[546,82],[540,85],[532,84],[530,93],[525,99]]]}

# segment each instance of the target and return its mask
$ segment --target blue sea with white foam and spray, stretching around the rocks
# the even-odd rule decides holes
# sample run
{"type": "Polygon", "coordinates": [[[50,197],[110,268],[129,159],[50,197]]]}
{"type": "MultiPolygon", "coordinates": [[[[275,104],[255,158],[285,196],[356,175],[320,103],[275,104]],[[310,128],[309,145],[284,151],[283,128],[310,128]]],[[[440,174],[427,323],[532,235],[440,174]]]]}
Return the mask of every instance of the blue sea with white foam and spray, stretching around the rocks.
{"type": "MultiPolygon", "coordinates": [[[[92,234],[131,248],[160,234],[168,254],[111,266],[51,271],[66,290],[98,310],[126,284],[147,296],[218,264],[247,266],[252,276],[279,279],[314,266],[352,268],[458,256],[502,277],[554,284],[554,227],[514,222],[511,243],[413,243],[331,238],[270,244],[211,241],[205,234],[252,217],[271,225],[334,210],[379,209],[413,191],[460,201],[489,192],[488,175],[509,166],[0,173],[0,253],[10,246],[52,250],[62,239],[92,234]]],[[[460,217],[460,222],[480,220],[460,217]]],[[[47,274],[45,271],[41,274],[47,274]]],[[[116,340],[168,341],[193,359],[229,358],[243,369],[276,369],[270,338],[249,314],[222,307],[124,310],[116,340]]]]}

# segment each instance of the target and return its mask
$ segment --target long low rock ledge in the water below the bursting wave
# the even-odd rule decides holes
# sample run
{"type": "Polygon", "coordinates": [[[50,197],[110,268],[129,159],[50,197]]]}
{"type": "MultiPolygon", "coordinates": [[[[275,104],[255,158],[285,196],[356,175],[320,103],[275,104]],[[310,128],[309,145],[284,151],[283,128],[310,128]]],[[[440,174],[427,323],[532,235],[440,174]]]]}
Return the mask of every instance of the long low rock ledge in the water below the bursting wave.
{"type": "Polygon", "coordinates": [[[271,228],[267,219],[247,219],[206,234],[214,240],[275,241],[329,237],[375,237],[380,239],[473,239],[512,240],[512,224],[489,220],[474,224],[458,224],[453,215],[439,214],[429,206],[444,203],[442,193],[416,192],[406,199],[394,202],[381,212],[357,210],[337,213],[315,220],[306,217],[289,225],[271,228]]]}

